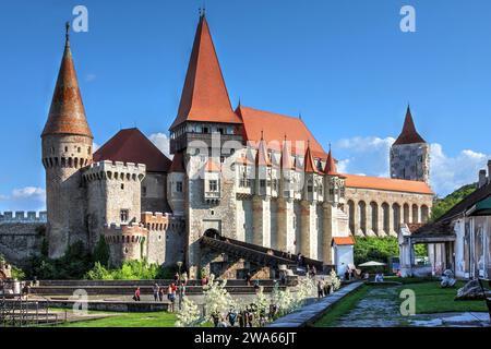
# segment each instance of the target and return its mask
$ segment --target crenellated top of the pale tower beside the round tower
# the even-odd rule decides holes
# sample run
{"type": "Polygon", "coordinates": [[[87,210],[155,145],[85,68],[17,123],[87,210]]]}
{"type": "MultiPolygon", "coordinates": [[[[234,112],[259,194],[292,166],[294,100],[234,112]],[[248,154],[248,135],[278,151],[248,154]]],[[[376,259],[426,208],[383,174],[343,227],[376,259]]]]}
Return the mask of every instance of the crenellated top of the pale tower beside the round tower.
{"type": "Polygon", "coordinates": [[[145,178],[144,164],[104,160],[93,163],[86,167],[83,177],[86,181],[94,180],[133,180],[142,181],[145,178]]]}

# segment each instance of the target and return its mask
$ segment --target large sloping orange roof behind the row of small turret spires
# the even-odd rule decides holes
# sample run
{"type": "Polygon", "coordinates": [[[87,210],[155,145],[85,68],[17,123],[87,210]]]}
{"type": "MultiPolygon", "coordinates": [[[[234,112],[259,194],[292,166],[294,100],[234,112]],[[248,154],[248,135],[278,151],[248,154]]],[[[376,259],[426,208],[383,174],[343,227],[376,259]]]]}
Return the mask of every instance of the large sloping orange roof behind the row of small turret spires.
{"type": "Polygon", "coordinates": [[[286,139],[291,142],[291,152],[302,156],[304,155],[307,143],[310,141],[313,157],[325,159],[327,156],[321,144],[299,118],[243,106],[239,106],[236,112],[243,121],[246,141],[259,142],[261,133],[263,133],[268,148],[282,151],[286,139]],[[297,142],[302,143],[296,144],[297,142]]]}

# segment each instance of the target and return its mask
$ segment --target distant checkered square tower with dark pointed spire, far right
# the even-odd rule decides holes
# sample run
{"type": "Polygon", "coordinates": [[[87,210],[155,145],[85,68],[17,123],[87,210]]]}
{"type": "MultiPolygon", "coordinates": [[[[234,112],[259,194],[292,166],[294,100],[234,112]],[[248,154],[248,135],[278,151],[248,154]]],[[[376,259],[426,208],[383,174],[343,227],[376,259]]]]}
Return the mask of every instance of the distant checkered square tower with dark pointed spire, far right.
{"type": "Polygon", "coordinates": [[[416,131],[409,106],[403,131],[391,147],[391,178],[430,182],[430,145],[416,131]]]}

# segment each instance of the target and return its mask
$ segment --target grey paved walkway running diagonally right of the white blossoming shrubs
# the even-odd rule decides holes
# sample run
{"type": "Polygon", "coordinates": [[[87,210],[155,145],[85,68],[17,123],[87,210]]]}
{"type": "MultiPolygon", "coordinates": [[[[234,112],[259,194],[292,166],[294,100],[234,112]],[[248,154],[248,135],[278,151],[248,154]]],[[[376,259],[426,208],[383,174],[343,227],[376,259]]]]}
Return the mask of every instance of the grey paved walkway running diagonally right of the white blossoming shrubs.
{"type": "Polygon", "coordinates": [[[363,282],[357,281],[350,285],[347,285],[339,289],[338,291],[316,301],[312,304],[302,306],[295,313],[283,316],[275,322],[266,325],[266,327],[301,327],[306,326],[308,323],[315,322],[325,312],[345,296],[351,293],[356,289],[358,289],[363,282]]]}

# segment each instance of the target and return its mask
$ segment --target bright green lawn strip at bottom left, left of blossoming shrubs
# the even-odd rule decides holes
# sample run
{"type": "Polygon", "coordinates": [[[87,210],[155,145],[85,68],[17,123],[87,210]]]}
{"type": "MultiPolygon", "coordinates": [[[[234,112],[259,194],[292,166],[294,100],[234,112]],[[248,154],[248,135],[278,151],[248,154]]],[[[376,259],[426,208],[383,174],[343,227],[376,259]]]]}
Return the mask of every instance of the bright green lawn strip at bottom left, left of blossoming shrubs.
{"type": "Polygon", "coordinates": [[[110,313],[113,316],[67,323],[58,327],[173,327],[176,314],[168,312],[151,313],[110,313]]]}

